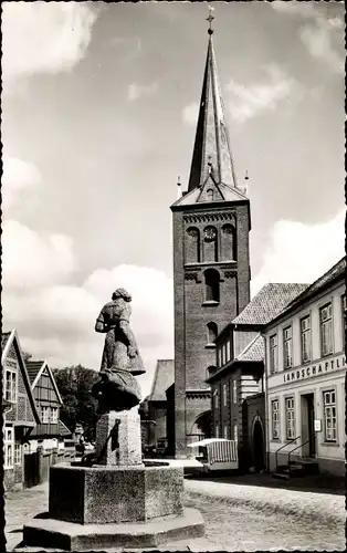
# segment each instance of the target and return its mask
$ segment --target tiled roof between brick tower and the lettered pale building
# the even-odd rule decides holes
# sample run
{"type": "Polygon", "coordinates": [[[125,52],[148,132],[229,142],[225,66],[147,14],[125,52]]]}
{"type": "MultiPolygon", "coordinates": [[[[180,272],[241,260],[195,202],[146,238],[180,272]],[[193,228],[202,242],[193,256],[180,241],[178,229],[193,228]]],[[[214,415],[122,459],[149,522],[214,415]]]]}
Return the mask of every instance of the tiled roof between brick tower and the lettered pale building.
{"type": "Polygon", "coordinates": [[[276,317],[308,284],[265,284],[244,310],[232,321],[233,325],[264,325],[276,317]]]}

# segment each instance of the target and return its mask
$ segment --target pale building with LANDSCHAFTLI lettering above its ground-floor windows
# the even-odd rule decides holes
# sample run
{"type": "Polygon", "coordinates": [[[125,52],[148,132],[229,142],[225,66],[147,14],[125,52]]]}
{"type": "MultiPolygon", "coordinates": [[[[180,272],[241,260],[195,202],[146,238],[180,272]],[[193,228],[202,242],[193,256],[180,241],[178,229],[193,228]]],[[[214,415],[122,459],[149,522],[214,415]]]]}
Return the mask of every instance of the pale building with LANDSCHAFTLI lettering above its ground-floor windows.
{"type": "Polygon", "coordinates": [[[345,473],[345,271],[346,258],[263,330],[272,471],[293,450],[293,460],[345,473]]]}

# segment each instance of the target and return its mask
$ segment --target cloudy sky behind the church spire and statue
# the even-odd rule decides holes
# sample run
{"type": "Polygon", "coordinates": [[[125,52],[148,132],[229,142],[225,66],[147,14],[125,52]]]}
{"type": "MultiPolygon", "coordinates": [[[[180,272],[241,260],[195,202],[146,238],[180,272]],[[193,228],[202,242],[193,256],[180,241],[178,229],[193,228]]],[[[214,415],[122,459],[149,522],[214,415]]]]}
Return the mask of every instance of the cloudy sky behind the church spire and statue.
{"type": "MultiPolygon", "coordinates": [[[[252,294],[344,251],[344,6],[211,2],[252,294]]],[[[52,367],[98,369],[124,286],[147,373],[174,356],[177,179],[188,186],[206,2],[2,2],[3,330],[52,367]]]]}

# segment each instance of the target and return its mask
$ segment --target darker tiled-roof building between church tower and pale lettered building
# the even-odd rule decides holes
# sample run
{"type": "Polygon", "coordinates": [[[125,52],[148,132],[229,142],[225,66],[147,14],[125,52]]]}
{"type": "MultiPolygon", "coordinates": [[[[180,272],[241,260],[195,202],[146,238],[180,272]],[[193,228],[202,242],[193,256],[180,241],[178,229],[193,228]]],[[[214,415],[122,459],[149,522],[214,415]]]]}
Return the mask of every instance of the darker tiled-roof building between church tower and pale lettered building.
{"type": "Polygon", "coordinates": [[[215,367],[207,383],[212,390],[212,435],[238,442],[239,468],[266,465],[264,340],[261,330],[307,284],[266,284],[215,338],[215,367]]]}

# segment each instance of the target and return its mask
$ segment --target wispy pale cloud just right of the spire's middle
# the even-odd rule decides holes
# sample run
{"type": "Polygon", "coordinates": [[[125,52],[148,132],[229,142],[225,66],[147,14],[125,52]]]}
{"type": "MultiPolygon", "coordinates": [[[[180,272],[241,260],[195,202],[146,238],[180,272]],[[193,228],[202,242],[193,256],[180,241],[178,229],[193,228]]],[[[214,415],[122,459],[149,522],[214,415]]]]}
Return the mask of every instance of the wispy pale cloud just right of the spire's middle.
{"type": "Polygon", "coordinates": [[[266,80],[251,85],[231,81],[227,91],[231,95],[230,113],[234,121],[243,123],[264,111],[274,109],[277,104],[288,97],[293,100],[299,92],[298,83],[281,67],[264,67],[266,80]]]}

